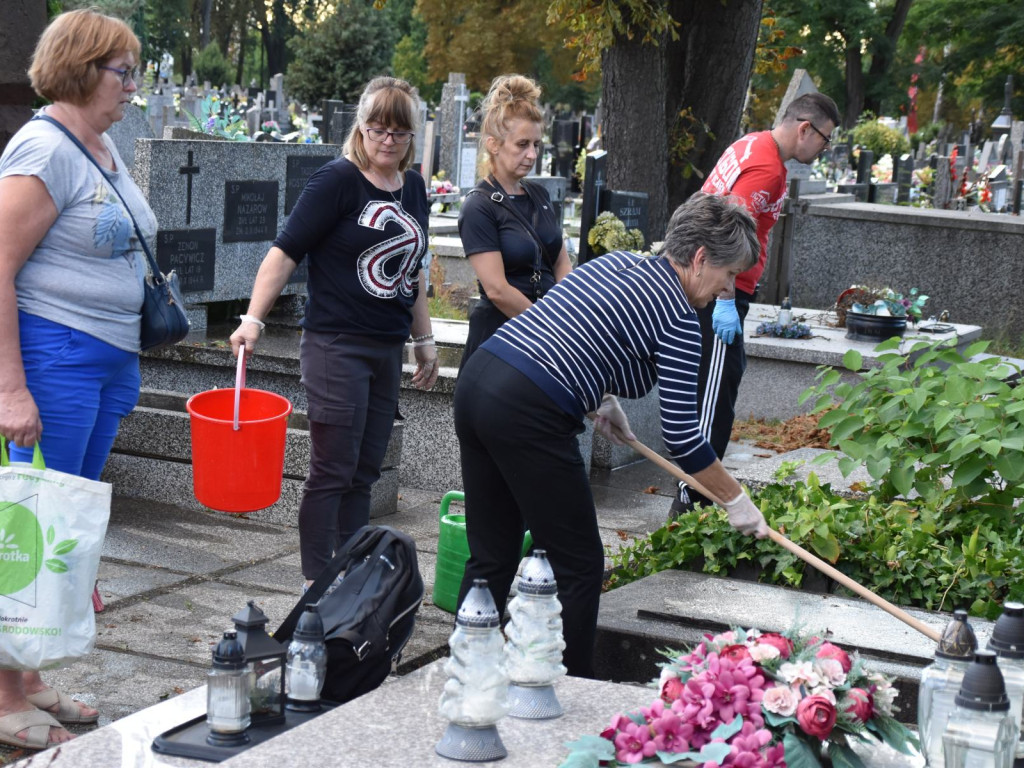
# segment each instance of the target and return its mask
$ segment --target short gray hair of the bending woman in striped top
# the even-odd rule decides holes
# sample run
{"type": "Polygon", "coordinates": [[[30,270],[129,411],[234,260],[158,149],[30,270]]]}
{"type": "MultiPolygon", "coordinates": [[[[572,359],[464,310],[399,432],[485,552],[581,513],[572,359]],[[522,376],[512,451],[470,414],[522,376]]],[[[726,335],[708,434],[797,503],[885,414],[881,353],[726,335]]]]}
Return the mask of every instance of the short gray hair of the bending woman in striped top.
{"type": "Polygon", "coordinates": [[[741,200],[697,193],[676,209],[663,253],[689,266],[700,246],[712,266],[738,265],[743,271],[758,262],[758,225],[741,200]]]}

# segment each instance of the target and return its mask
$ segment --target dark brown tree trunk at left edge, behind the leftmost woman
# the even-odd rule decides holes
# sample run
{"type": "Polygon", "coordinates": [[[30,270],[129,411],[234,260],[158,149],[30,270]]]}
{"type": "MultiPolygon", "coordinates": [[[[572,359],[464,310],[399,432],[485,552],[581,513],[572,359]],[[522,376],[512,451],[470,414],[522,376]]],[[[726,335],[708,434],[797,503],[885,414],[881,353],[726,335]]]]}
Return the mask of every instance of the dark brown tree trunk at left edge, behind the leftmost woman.
{"type": "Polygon", "coordinates": [[[46,27],[46,3],[8,0],[0,11],[0,152],[32,119],[35,91],[29,65],[36,41],[46,27]]]}

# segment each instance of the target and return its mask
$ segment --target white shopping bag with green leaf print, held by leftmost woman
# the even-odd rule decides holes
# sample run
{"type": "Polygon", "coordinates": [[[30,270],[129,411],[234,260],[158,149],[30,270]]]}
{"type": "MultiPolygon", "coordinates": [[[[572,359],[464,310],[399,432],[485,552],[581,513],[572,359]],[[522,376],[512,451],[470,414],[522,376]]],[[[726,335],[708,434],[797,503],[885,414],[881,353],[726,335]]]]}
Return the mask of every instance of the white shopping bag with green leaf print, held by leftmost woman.
{"type": "Polygon", "coordinates": [[[0,669],[42,670],[92,650],[92,590],[111,485],[8,461],[0,438],[0,669]]]}

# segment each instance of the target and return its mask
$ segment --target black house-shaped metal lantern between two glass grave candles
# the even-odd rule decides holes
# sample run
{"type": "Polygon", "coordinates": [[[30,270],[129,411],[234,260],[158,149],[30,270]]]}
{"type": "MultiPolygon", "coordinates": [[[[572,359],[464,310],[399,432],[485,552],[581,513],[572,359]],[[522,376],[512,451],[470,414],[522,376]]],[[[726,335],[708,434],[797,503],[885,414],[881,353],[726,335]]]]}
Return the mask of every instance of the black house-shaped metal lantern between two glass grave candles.
{"type": "Polygon", "coordinates": [[[281,643],[266,634],[266,614],[250,600],[231,617],[251,676],[249,700],[254,727],[285,722],[285,655],[281,643]]]}

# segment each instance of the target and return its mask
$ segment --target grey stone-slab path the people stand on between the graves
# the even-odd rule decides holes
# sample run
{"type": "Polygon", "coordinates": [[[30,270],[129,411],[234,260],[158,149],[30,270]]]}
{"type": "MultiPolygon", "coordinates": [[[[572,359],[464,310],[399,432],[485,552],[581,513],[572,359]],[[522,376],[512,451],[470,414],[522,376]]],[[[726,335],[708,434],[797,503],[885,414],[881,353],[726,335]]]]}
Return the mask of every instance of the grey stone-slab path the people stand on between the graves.
{"type": "MultiPolygon", "coordinates": [[[[733,463],[758,458],[734,447],[733,463]]],[[[592,486],[601,536],[613,551],[663,525],[675,489],[646,461],[595,472],[592,486]]],[[[398,511],[374,520],[413,536],[427,585],[402,674],[447,652],[453,616],[431,601],[441,496],[401,488],[398,511]]],[[[269,630],[298,601],[298,551],[294,527],[116,497],[99,567],[105,609],[96,614],[95,650],[44,680],[98,709],[100,727],[204,684],[212,646],[247,600],[267,614],[269,630]]],[[[0,765],[27,754],[0,746],[0,765]]]]}

